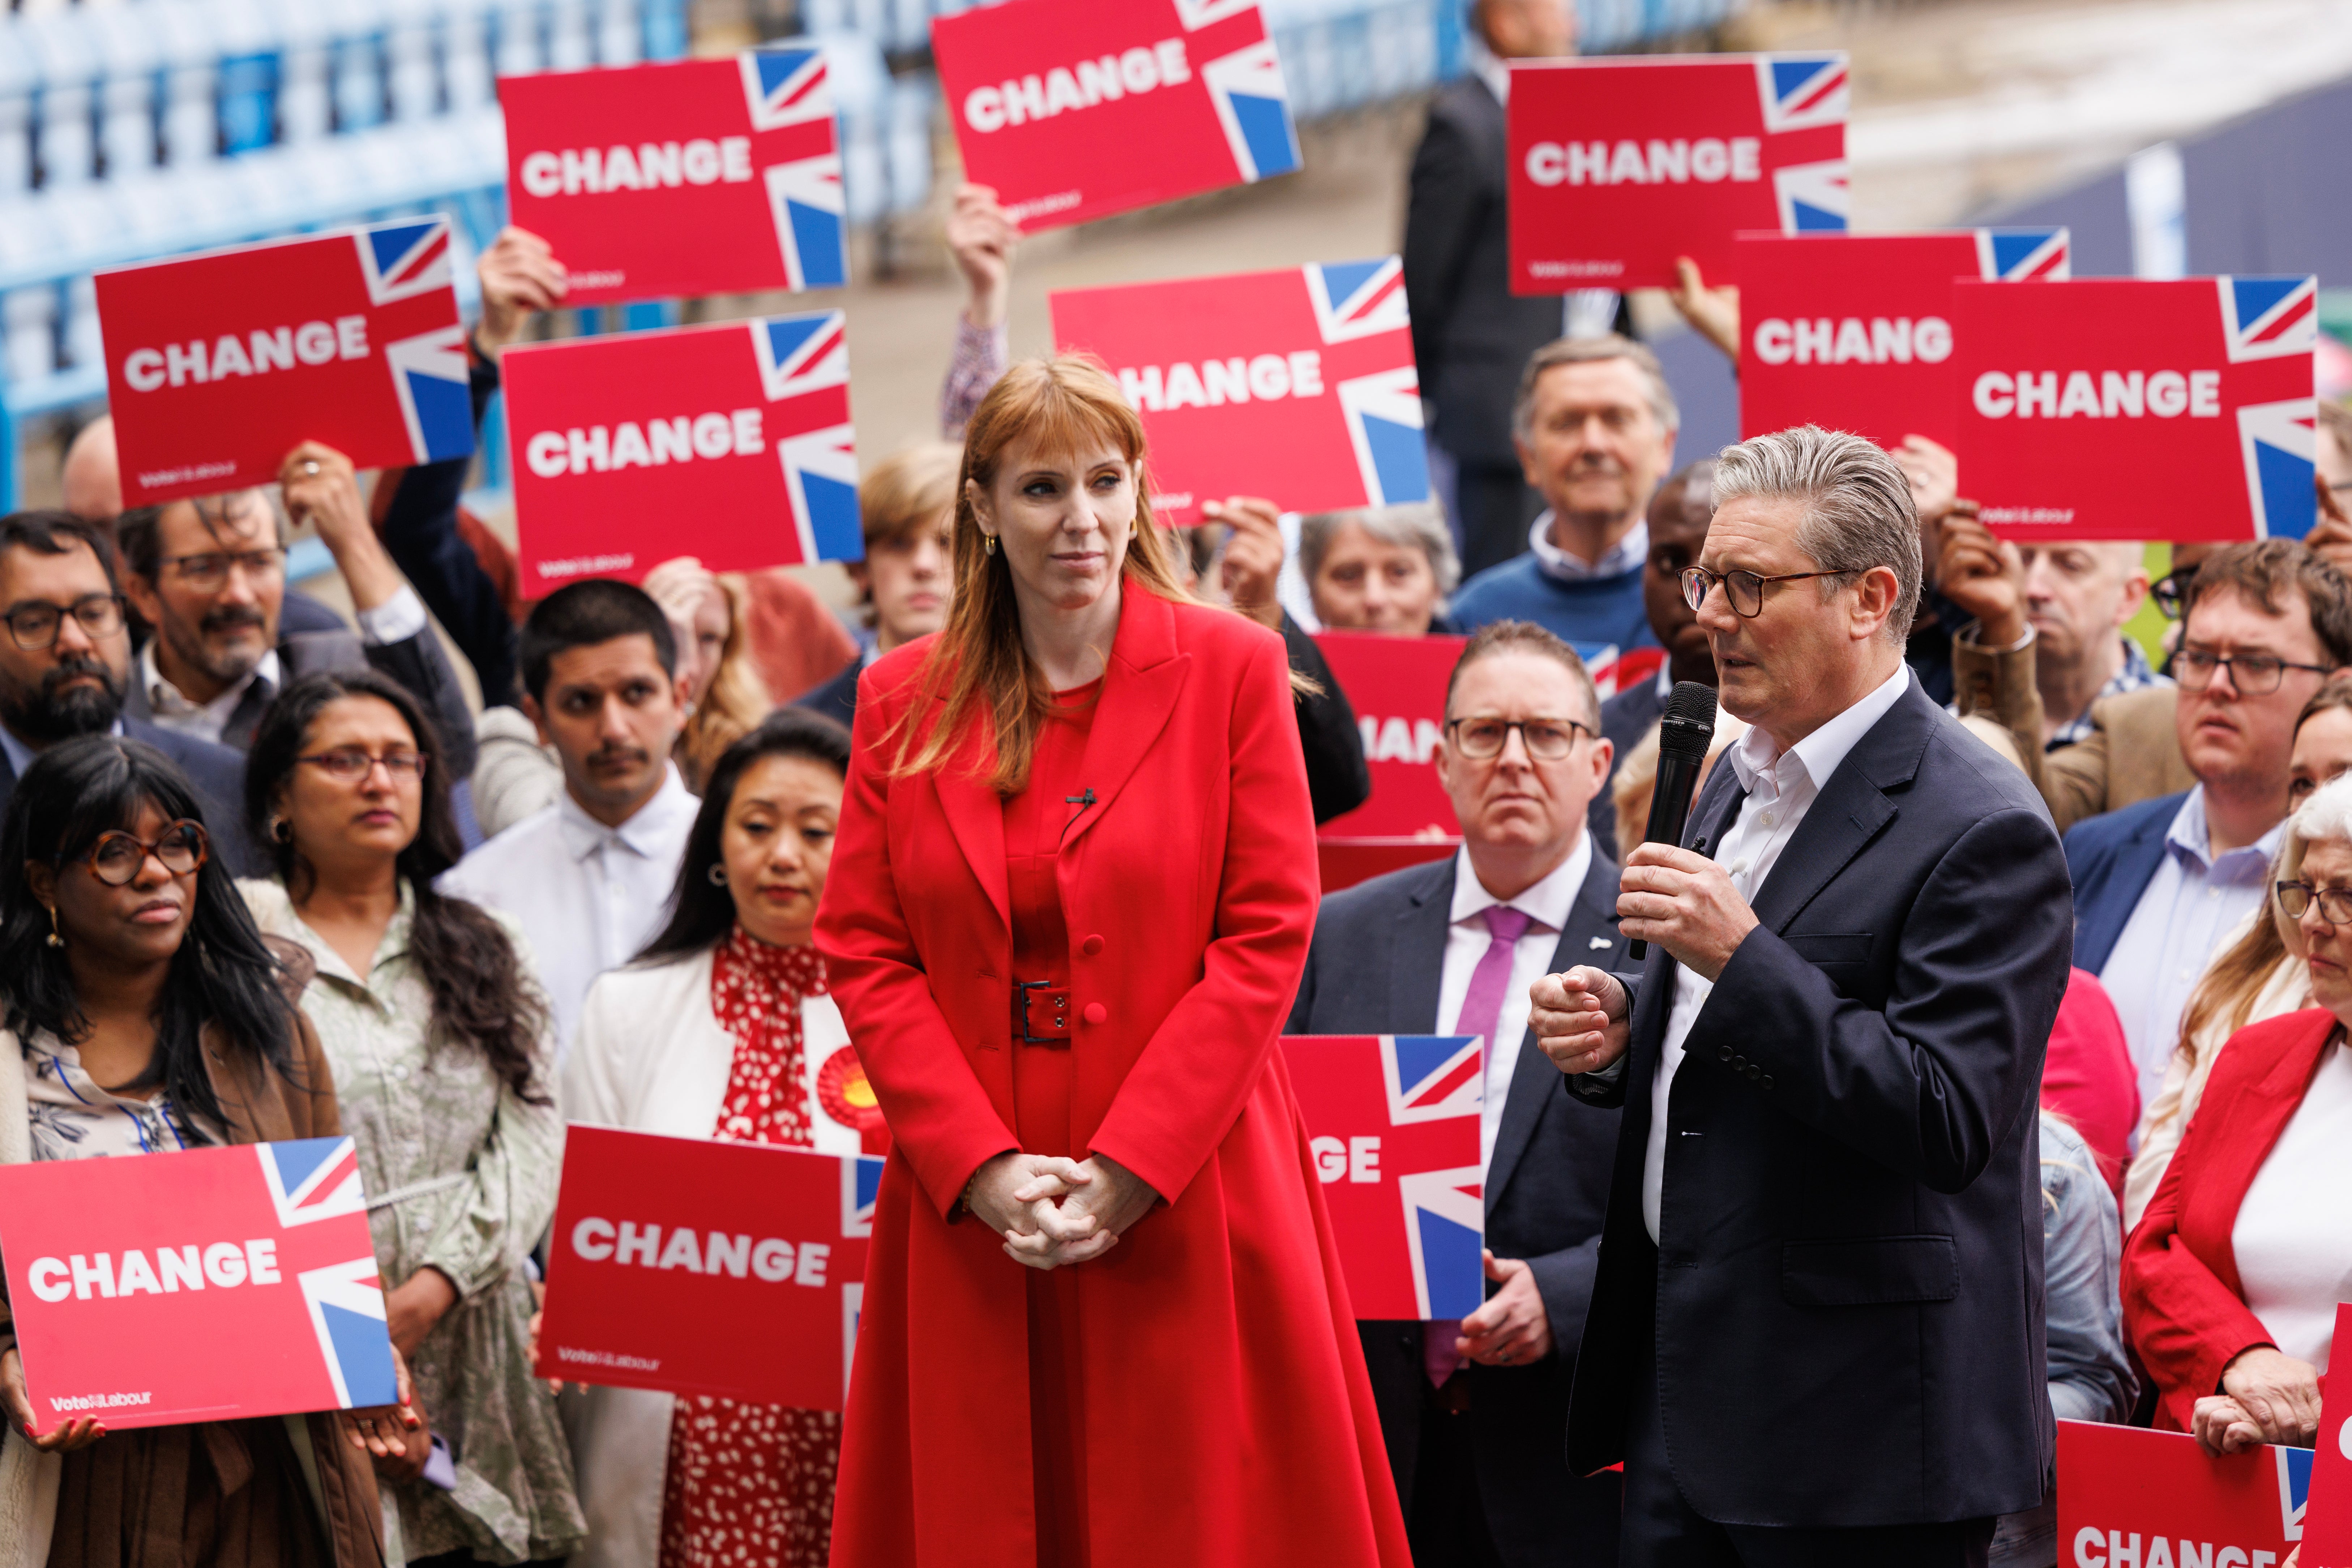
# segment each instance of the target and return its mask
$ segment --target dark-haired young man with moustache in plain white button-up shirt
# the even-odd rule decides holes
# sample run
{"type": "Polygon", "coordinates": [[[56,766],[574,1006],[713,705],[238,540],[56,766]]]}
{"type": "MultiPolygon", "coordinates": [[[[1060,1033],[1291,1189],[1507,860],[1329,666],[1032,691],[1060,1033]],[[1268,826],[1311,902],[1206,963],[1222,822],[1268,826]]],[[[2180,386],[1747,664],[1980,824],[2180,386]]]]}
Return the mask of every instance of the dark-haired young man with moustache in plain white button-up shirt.
{"type": "Polygon", "coordinates": [[[670,618],[628,583],[557,588],[522,625],[522,686],[564,792],[437,886],[522,922],[564,1053],[588,985],[661,931],[699,809],[670,762],[687,722],[670,618]]]}

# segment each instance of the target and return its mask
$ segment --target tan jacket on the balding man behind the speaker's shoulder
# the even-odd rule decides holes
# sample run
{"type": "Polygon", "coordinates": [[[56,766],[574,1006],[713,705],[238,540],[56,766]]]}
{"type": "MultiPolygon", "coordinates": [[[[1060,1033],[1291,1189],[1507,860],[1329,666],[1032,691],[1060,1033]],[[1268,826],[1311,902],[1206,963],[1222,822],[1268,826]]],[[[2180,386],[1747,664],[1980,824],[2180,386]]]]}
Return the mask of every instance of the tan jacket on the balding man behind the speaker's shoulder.
{"type": "Polygon", "coordinates": [[[1966,635],[1952,637],[1952,686],[1962,715],[1990,717],[2016,738],[2025,776],[2042,790],[2058,832],[2197,783],[2173,731],[2173,686],[2098,698],[2091,703],[2091,736],[2056,752],[2042,750],[2032,642],[1997,654],[1966,635]]]}

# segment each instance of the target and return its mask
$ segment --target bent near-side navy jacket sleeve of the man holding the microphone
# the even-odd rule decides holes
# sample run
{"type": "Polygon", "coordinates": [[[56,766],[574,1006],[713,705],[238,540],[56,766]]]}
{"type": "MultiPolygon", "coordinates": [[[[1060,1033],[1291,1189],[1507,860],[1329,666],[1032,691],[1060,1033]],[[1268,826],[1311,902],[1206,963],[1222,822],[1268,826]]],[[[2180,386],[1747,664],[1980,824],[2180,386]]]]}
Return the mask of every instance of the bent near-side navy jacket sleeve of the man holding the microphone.
{"type": "Polygon", "coordinates": [[[1997,811],[1945,851],[1912,903],[1884,1011],[1839,994],[1757,926],[1700,1009],[1682,1072],[1724,1072],[1719,1053],[1731,1051],[1762,1070],[1736,1070],[1738,1084],[1783,1114],[1959,1192],[2034,1100],[2072,922],[2049,818],[1997,811]]]}

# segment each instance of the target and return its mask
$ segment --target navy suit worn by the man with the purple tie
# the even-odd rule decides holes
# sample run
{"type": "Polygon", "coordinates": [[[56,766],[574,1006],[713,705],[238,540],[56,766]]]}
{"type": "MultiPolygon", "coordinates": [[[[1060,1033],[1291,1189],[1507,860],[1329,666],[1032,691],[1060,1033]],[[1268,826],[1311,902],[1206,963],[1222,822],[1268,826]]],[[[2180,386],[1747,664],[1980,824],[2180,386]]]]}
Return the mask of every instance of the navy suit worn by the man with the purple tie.
{"type": "MultiPolygon", "coordinates": [[[[1315,919],[1291,1034],[1432,1034],[1454,912],[1456,858],[1409,865],[1331,893],[1315,919]]],[[[1616,936],[1616,860],[1595,846],[1552,971],[1609,961],[1616,936]]],[[[1486,1246],[1524,1258],[1552,1319],[1555,1354],[1538,1366],[1465,1363],[1470,1441],[1477,1453],[1486,1530],[1510,1568],[1616,1561],[1616,1476],[1576,1479],[1559,1462],[1569,1422],[1569,1373],[1585,1335],[1585,1302],[1609,1204],[1613,1121],[1571,1105],[1564,1079],[1517,1041],[1510,1098],[1486,1168],[1486,1246]]],[[[1381,1434],[1411,1507],[1421,1446],[1421,1324],[1359,1321],[1381,1434]]]]}

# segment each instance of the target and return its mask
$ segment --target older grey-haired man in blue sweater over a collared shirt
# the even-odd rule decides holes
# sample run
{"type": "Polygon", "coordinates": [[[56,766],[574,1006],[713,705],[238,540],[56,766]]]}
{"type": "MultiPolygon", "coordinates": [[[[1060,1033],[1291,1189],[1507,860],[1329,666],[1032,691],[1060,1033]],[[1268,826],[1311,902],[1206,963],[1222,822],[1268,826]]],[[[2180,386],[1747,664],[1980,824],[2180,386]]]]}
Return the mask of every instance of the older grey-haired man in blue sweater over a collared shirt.
{"type": "Polygon", "coordinates": [[[1454,621],[1534,621],[1588,663],[1653,646],[1642,607],[1644,508],[1675,463],[1682,414],[1665,371],[1621,336],[1559,339],[1519,376],[1512,442],[1545,512],[1526,555],[1454,595],[1454,621]]]}

